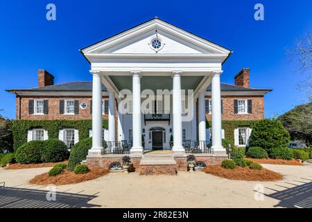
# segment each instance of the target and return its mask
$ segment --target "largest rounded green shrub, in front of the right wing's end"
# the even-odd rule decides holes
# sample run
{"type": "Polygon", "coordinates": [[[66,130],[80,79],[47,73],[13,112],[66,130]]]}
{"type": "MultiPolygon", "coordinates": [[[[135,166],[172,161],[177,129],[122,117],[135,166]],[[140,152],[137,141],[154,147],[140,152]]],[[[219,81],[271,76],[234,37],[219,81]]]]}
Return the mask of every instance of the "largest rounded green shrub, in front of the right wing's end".
{"type": "Polygon", "coordinates": [[[263,119],[254,124],[249,144],[269,150],[275,147],[286,147],[289,142],[290,135],[280,121],[263,119]]]}

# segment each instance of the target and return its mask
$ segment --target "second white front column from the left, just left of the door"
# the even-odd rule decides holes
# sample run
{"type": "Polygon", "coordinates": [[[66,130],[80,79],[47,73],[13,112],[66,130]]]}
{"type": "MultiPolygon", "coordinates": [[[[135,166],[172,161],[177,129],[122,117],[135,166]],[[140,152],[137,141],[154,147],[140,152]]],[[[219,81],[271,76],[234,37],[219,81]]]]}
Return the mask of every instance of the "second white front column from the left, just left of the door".
{"type": "Polygon", "coordinates": [[[141,130],[141,72],[132,71],[132,137],[131,153],[143,153],[141,130]]]}

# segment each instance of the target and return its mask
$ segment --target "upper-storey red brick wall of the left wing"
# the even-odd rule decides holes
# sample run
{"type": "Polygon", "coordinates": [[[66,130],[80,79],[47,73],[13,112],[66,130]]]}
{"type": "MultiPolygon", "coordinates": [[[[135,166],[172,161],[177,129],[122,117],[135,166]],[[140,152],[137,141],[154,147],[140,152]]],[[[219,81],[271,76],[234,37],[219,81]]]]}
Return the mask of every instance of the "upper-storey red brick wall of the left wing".
{"type": "MultiPolygon", "coordinates": [[[[103,96],[103,99],[107,100],[107,96],[103,96]]],[[[91,108],[91,96],[23,96],[21,98],[21,119],[31,119],[31,120],[52,120],[52,119],[67,119],[67,120],[79,120],[79,119],[92,119],[92,114],[90,112],[91,108]],[[36,115],[29,114],[28,101],[33,99],[44,99],[49,101],[49,114],[36,115]],[[60,114],[60,100],[74,99],[78,100],[79,104],[82,102],[87,103],[87,108],[85,110],[79,108],[79,114],[76,115],[66,115],[60,114]]],[[[19,99],[16,98],[16,118],[18,119],[18,105],[19,99]]],[[[107,114],[103,114],[103,118],[107,119],[107,114]]]]}

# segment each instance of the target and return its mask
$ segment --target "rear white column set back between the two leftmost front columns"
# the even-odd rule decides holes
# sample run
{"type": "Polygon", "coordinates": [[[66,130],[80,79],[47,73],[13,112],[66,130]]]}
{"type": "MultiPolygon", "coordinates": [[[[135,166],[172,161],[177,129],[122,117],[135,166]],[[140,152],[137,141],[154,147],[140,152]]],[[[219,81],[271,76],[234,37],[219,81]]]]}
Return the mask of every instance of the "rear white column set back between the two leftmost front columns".
{"type": "Polygon", "coordinates": [[[115,94],[108,92],[108,139],[116,141],[115,94]]]}

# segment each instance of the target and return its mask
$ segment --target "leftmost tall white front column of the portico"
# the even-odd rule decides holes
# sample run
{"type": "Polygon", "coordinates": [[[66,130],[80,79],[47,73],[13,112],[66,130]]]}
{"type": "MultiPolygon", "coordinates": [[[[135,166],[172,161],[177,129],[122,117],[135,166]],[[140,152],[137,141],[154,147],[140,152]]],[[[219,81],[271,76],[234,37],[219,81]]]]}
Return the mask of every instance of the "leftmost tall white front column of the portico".
{"type": "Polygon", "coordinates": [[[91,71],[93,74],[92,89],[92,148],[89,154],[103,154],[102,133],[103,133],[103,116],[102,116],[102,84],[100,71],[91,71]]]}

